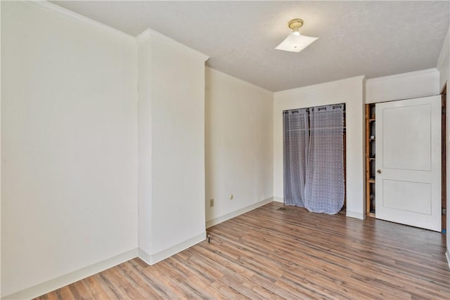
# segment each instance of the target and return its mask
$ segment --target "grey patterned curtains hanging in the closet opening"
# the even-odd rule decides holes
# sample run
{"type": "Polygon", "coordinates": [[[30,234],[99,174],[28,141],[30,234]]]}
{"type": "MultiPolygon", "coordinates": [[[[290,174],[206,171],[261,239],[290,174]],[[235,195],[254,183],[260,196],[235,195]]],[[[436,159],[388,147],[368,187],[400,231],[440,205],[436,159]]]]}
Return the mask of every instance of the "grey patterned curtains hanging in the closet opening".
{"type": "Polygon", "coordinates": [[[285,204],[337,214],[344,204],[344,105],[290,110],[284,124],[285,204]]]}

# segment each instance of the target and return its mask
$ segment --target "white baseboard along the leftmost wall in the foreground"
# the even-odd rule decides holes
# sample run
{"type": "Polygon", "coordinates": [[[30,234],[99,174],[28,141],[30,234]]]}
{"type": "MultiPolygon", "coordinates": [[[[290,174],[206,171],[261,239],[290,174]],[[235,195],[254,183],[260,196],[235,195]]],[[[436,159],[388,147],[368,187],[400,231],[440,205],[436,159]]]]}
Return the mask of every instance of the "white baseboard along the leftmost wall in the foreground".
{"type": "Polygon", "coordinates": [[[138,256],[138,249],[131,249],[117,256],[105,259],[104,261],[94,263],[91,266],[86,266],[85,268],[75,270],[52,280],[39,283],[39,285],[34,285],[33,287],[28,287],[27,289],[23,289],[19,292],[3,296],[1,297],[1,299],[33,299],[43,294],[52,292],[55,289],[59,289],[60,287],[70,285],[73,282],[77,282],[78,280],[82,280],[108,268],[112,268],[113,266],[117,266],[118,264],[129,261],[130,259],[134,259],[136,256],[138,256]]]}

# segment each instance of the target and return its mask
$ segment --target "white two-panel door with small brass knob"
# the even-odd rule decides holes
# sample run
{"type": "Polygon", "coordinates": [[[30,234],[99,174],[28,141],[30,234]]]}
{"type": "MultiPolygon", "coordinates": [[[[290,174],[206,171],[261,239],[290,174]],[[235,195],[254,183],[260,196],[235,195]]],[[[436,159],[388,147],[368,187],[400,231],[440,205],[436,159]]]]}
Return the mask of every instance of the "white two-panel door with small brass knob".
{"type": "Polygon", "coordinates": [[[441,97],[375,105],[375,217],[441,231],[441,97]]]}

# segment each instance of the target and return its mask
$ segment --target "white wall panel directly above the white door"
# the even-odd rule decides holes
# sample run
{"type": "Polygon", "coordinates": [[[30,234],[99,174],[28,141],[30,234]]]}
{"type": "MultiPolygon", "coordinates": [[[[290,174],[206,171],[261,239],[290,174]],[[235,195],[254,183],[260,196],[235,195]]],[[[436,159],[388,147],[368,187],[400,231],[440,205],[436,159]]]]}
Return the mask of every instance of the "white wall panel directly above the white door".
{"type": "Polygon", "coordinates": [[[439,95],[436,68],[367,79],[366,103],[439,95]]]}

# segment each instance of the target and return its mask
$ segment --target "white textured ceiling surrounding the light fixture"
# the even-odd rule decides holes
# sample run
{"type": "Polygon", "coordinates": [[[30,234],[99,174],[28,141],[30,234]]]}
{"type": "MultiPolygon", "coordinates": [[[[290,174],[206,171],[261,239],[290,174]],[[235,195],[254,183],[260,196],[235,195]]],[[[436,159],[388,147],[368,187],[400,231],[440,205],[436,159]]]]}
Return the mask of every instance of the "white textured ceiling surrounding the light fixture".
{"type": "Polygon", "coordinates": [[[152,28],[270,91],[435,67],[450,15],[450,1],[52,2],[134,36],[152,28]],[[319,39],[300,53],[275,50],[293,18],[319,39]]]}

